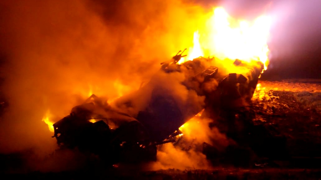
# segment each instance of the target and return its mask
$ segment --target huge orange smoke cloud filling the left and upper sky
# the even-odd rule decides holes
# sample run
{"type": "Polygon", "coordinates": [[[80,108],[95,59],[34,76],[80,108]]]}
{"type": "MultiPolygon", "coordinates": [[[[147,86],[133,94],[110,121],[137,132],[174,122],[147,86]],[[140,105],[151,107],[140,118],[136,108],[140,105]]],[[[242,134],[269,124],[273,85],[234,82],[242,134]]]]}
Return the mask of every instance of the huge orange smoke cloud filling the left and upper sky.
{"type": "MultiPolygon", "coordinates": [[[[41,121],[48,109],[55,115],[51,121],[58,121],[91,92],[113,99],[139,89],[160,62],[192,46],[207,11],[170,0],[17,0],[0,7],[1,90],[8,102],[0,122],[0,153],[37,149],[44,155],[57,147],[41,121]]],[[[169,91],[180,101],[187,96],[201,104],[202,98],[176,83],[183,77],[175,77],[177,86],[169,91]]],[[[144,103],[138,99],[136,106],[144,103]]]]}

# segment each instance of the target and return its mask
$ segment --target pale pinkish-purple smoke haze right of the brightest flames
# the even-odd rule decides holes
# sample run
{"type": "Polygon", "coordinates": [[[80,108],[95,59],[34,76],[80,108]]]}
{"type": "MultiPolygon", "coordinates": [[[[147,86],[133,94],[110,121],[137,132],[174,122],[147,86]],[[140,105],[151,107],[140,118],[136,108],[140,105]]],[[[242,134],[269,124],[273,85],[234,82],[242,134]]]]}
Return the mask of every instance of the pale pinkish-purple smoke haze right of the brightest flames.
{"type": "Polygon", "coordinates": [[[233,16],[271,17],[270,65],[263,78],[321,78],[319,0],[224,0],[222,4],[233,16]]]}

